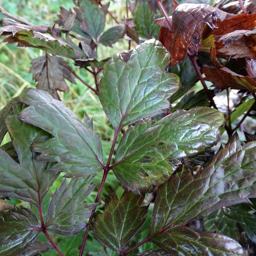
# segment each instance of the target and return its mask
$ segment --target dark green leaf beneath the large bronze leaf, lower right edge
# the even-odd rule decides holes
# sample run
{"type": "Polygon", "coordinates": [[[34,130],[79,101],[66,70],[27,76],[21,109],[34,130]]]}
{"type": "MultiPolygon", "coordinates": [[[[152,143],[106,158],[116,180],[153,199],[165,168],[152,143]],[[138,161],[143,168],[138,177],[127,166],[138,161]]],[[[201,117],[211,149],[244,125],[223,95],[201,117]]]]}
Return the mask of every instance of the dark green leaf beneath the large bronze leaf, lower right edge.
{"type": "Polygon", "coordinates": [[[204,216],[204,228],[209,232],[226,234],[239,240],[239,230],[237,225],[244,229],[249,239],[256,242],[256,215],[255,209],[249,204],[238,204],[223,207],[204,216]]]}

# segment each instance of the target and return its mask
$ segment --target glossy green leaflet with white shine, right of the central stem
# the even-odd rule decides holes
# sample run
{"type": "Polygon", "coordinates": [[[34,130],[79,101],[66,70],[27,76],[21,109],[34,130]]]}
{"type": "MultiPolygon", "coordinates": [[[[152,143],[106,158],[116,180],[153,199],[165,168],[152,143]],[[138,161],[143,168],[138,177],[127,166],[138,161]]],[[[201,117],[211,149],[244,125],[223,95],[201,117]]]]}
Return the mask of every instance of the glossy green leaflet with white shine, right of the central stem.
{"type": "Polygon", "coordinates": [[[179,110],[153,125],[140,121],[121,139],[112,170],[127,190],[149,192],[170,177],[177,159],[215,145],[223,122],[222,113],[207,107],[179,110]]]}

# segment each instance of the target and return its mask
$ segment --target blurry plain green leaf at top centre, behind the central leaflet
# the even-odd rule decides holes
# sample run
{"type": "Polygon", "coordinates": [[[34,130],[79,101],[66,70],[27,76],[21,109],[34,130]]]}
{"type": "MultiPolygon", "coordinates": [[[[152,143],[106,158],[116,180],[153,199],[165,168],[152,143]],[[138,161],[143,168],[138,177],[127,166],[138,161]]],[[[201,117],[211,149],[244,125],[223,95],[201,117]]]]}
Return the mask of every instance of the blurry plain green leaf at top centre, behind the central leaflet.
{"type": "Polygon", "coordinates": [[[155,22],[155,12],[153,12],[148,1],[141,1],[133,12],[134,24],[138,34],[146,39],[158,38],[160,26],[155,22]]]}

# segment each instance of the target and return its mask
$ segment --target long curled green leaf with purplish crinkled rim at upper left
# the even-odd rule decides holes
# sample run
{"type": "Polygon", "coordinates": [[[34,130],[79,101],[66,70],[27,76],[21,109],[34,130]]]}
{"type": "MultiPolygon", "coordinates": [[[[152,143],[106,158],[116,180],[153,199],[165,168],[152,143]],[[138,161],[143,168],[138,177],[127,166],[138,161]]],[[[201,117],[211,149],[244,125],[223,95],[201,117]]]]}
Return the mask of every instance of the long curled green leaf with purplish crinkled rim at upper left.
{"type": "Polygon", "coordinates": [[[5,38],[3,42],[18,43],[20,47],[36,47],[51,54],[76,58],[75,51],[67,43],[32,29],[19,26],[6,26],[0,29],[0,35],[11,35],[5,38]]]}

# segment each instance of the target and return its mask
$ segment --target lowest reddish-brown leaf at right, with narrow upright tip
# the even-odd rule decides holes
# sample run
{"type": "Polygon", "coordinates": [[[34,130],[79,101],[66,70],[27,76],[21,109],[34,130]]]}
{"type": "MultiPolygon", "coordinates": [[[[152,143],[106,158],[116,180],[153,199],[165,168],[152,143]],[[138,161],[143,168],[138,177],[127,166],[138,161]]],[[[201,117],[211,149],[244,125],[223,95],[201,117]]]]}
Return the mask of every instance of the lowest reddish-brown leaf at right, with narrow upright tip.
{"type": "Polygon", "coordinates": [[[249,76],[242,76],[229,68],[222,66],[216,59],[216,50],[211,49],[211,60],[216,68],[204,66],[202,71],[205,74],[204,80],[211,81],[213,86],[219,89],[247,89],[254,97],[256,91],[256,81],[249,76]]]}

